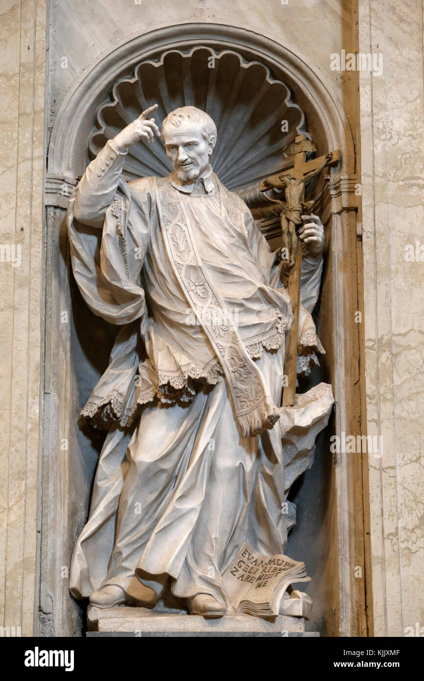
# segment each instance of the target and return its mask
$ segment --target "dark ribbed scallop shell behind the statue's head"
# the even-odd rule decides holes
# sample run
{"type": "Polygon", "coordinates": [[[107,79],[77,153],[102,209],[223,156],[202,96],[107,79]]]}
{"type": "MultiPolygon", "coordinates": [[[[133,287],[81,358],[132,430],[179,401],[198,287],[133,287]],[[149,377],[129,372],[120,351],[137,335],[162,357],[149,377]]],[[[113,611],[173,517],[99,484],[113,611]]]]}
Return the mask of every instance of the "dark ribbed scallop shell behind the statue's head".
{"type": "MultiPolygon", "coordinates": [[[[110,99],[97,109],[88,150],[93,158],[105,143],[152,104],[159,128],[179,106],[196,106],[213,118],[218,130],[212,166],[229,189],[239,189],[283,170],[281,150],[306,133],[304,113],[291,101],[289,88],[274,80],[258,61],[232,50],[195,47],[167,50],[157,61],[142,61],[133,76],[114,84],[110,99]],[[286,121],[286,123],[284,123],[286,121]]],[[[127,179],[172,171],[162,140],[135,144],[125,159],[127,179]]]]}

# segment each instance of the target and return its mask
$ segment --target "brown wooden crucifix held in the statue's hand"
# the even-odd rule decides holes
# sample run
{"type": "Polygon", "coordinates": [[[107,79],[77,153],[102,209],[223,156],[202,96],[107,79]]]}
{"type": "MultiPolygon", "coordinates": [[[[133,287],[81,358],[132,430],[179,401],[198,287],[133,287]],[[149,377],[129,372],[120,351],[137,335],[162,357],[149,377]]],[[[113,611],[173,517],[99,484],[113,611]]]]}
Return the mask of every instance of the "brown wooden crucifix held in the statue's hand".
{"type": "Polygon", "coordinates": [[[297,378],[297,343],[299,335],[300,276],[301,276],[301,242],[297,238],[296,229],[302,224],[301,215],[312,212],[314,202],[305,204],[305,184],[318,175],[327,165],[336,165],[340,161],[340,151],[333,151],[312,161],[306,161],[306,153],[316,151],[312,140],[299,135],[295,141],[283,149],[285,157],[293,155],[293,167],[261,182],[261,191],[271,188],[284,190],[285,203],[282,203],[280,215],[282,227],[282,245],[289,254],[287,268],[289,270],[288,290],[293,307],[293,326],[286,339],[286,355],[284,375],[287,385],[282,392],[282,406],[295,405],[297,378]]]}

